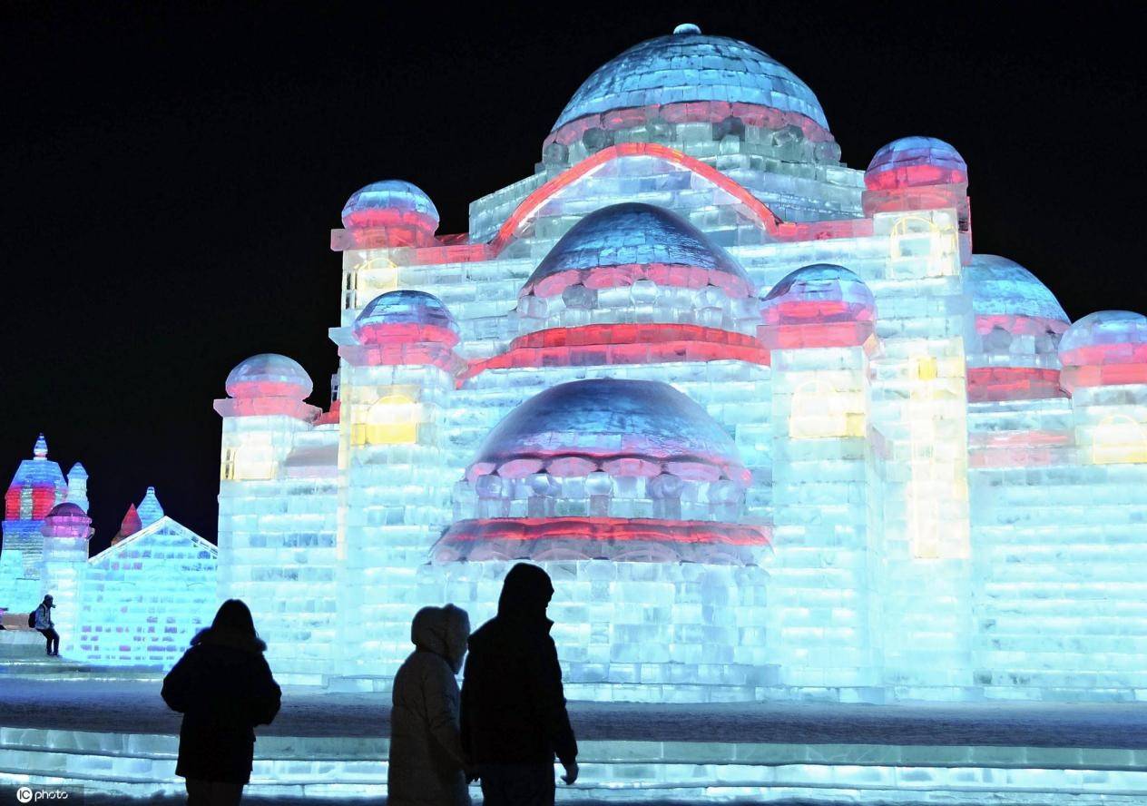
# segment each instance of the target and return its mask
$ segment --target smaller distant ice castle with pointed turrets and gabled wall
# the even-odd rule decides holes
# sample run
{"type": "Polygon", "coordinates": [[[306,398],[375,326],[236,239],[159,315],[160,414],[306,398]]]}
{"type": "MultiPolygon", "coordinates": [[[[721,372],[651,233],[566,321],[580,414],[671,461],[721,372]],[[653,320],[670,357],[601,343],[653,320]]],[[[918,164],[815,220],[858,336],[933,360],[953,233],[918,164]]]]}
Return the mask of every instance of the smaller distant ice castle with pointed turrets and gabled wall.
{"type": "Polygon", "coordinates": [[[40,435],[5,499],[0,608],[28,612],[50,593],[63,657],[167,668],[214,616],[218,550],[164,515],[148,487],[111,547],[89,557],[87,480],[78,462],[64,479],[40,435]]]}

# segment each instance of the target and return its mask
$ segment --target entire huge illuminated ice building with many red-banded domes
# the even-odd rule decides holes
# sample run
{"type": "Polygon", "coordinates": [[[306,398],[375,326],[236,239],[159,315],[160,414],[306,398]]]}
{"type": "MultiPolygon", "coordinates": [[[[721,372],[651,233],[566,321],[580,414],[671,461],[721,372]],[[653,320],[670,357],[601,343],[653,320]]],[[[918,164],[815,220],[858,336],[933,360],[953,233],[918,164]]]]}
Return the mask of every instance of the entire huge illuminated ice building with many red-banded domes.
{"type": "Polygon", "coordinates": [[[1147,319],[975,253],[968,175],[845,166],[799,78],[682,25],[468,233],[364,187],[331,409],[274,354],[216,402],[219,595],[289,682],[385,688],[420,607],[478,624],[531,561],[574,698],[1133,697],[1147,319]]]}

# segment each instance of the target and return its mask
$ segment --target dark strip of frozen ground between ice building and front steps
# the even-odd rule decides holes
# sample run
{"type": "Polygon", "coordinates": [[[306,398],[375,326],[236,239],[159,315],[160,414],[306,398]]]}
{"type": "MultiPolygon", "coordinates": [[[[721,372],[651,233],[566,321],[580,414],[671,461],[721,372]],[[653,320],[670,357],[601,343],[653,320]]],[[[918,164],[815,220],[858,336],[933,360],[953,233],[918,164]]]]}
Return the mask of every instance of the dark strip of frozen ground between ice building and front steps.
{"type": "MultiPolygon", "coordinates": [[[[585,740],[1147,749],[1147,703],[571,703],[570,711],[585,740]]],[[[179,715],[155,682],[7,680],[0,726],[175,734],[179,715]]],[[[385,736],[389,729],[390,695],[288,688],[279,718],[259,733],[385,736]]]]}

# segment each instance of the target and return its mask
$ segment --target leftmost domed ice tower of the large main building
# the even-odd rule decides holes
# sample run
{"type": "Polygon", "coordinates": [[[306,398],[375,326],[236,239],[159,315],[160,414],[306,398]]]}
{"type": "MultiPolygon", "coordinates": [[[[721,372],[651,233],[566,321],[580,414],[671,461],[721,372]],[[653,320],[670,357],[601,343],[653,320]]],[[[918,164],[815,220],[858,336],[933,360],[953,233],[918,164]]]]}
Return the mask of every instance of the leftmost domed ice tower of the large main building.
{"type": "Polygon", "coordinates": [[[335,650],[336,425],[313,424],[311,378],[282,355],[227,378],[219,486],[219,597],[257,615],[284,680],[321,682],[335,650]]]}

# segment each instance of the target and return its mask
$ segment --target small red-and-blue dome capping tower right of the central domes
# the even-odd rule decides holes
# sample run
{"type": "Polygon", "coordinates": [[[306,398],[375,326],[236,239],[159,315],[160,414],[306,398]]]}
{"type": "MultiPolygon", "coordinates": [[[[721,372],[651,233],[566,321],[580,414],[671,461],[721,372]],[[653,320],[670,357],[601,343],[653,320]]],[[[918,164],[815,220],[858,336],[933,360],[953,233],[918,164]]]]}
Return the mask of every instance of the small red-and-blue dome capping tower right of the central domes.
{"type": "Polygon", "coordinates": [[[818,263],[787,274],[760,306],[766,324],[871,322],[876,300],[856,273],[818,263]]]}

